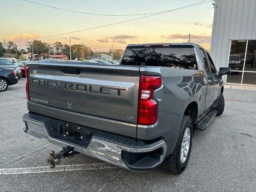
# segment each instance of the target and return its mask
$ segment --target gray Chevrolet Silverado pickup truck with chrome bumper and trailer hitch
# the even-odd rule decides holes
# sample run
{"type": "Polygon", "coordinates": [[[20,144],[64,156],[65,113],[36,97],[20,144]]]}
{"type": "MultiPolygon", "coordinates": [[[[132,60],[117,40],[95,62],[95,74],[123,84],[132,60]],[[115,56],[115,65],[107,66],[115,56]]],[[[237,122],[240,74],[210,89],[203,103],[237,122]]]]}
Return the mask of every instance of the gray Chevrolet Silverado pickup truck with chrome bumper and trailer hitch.
{"type": "Polygon", "coordinates": [[[119,65],[31,62],[24,132],[130,170],[180,174],[194,130],[224,110],[222,75],[198,44],[129,44],[119,65]]]}

